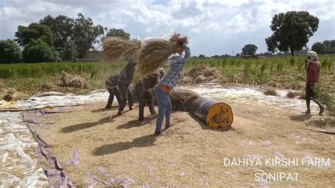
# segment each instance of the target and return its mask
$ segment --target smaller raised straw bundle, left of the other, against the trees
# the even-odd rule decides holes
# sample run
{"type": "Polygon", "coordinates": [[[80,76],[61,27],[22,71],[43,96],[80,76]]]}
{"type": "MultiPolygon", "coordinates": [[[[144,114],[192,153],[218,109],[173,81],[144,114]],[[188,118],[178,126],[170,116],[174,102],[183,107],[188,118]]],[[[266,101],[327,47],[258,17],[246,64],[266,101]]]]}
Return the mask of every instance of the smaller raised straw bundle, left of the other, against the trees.
{"type": "Polygon", "coordinates": [[[107,37],[102,42],[105,57],[109,61],[115,61],[122,57],[132,57],[141,47],[141,41],[125,40],[119,37],[107,37]]]}

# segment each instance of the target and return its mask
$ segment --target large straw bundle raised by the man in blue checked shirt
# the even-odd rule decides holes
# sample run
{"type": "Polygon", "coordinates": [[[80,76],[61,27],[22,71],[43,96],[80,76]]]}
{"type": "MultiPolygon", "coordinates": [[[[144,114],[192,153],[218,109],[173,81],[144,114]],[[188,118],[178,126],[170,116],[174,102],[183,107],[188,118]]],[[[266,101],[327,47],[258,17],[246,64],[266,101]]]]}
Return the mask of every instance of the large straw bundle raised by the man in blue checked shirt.
{"type": "Polygon", "coordinates": [[[182,45],[187,44],[187,37],[175,33],[170,40],[147,40],[145,45],[137,52],[136,75],[145,76],[163,65],[171,54],[184,52],[182,45]]]}

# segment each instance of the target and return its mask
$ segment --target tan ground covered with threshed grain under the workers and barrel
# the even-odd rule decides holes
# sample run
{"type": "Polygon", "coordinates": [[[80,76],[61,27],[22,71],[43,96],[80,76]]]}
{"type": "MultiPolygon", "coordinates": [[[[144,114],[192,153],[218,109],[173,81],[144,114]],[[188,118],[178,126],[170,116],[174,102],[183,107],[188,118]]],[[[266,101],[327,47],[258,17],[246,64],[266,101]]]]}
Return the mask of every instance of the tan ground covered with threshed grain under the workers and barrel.
{"type": "MultiPolygon", "coordinates": [[[[131,186],[335,186],[335,136],[307,126],[312,116],[259,103],[228,102],[233,108],[233,129],[208,129],[187,112],[173,112],[173,127],[165,136],[153,136],[155,116],[137,121],[137,107],[116,117],[117,107],[105,103],[66,107],[64,113],[48,114],[34,129],[61,160],[74,184],[87,186],[88,173],[129,177],[131,186]],[[110,115],[113,119],[110,120],[110,115]],[[78,165],[69,165],[73,150],[78,165]],[[298,167],[265,166],[265,158],[298,158],[298,167]],[[224,158],[260,158],[262,166],[225,166],[224,158]],[[302,158],[330,158],[330,166],[301,166],[302,158]],[[256,181],[255,173],[300,173],[297,181],[256,181]]],[[[55,109],[57,110],[57,109],[55,109]]],[[[64,108],[62,109],[64,110],[64,108]]],[[[325,129],[325,128],[322,128],[325,129]]],[[[329,128],[328,131],[334,132],[329,128]]],[[[96,182],[96,185],[103,184],[96,182]]]]}

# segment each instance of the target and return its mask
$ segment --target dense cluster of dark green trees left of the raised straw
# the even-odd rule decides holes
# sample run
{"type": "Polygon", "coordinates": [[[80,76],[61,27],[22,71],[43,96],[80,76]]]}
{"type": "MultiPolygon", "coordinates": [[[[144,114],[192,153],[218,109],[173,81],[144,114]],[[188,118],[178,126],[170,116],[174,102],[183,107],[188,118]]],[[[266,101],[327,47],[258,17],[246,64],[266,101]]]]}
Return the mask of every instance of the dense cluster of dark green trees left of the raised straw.
{"type": "Polygon", "coordinates": [[[0,41],[0,63],[76,61],[105,37],[130,39],[124,30],[95,25],[82,13],[77,18],[45,16],[38,23],[19,25],[15,36],[14,40],[0,41]]]}

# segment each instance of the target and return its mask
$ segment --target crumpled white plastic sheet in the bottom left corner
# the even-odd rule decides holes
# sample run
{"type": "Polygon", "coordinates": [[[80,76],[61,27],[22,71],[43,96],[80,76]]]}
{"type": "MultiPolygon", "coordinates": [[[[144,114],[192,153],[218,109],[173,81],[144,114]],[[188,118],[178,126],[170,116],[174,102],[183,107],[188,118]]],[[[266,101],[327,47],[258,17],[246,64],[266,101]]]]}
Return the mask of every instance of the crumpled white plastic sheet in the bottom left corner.
{"type": "Polygon", "coordinates": [[[42,168],[37,165],[35,139],[23,124],[21,112],[0,113],[0,187],[47,186],[42,168]]]}

